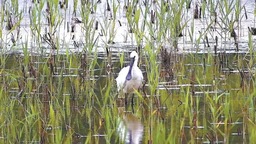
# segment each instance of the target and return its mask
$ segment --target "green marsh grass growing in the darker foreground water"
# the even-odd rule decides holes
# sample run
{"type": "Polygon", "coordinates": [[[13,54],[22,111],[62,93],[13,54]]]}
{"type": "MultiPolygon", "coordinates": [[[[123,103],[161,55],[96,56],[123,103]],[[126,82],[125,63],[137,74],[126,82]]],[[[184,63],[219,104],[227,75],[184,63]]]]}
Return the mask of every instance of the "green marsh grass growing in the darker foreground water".
{"type": "MultiPolygon", "coordinates": [[[[143,95],[139,96],[137,99],[138,103],[142,102],[145,104],[135,106],[135,109],[142,108],[142,112],[139,110],[136,114],[138,116],[141,115],[141,120],[144,121],[145,134],[143,139],[145,141],[163,143],[197,142],[196,138],[202,137],[212,142],[222,140],[232,142],[233,138],[230,136],[230,133],[236,131],[234,130],[235,127],[241,126],[238,124],[236,126],[235,124],[240,121],[243,121],[243,126],[248,128],[248,132],[247,130],[244,132],[252,133],[253,135],[253,128],[251,128],[253,120],[251,118],[254,117],[254,113],[251,112],[251,108],[254,107],[254,104],[249,99],[253,99],[254,92],[250,94],[249,91],[251,89],[247,87],[240,90],[241,79],[237,78],[240,74],[225,75],[225,79],[221,80],[219,66],[211,66],[214,65],[214,57],[201,57],[202,59],[207,58],[206,65],[209,65],[203,70],[203,65],[200,64],[202,59],[191,55],[191,59],[194,61],[191,61],[191,59],[180,59],[180,63],[175,64],[175,68],[181,68],[179,71],[179,75],[181,75],[178,80],[179,83],[187,83],[190,86],[180,86],[178,91],[168,89],[160,91],[157,88],[159,82],[155,77],[159,76],[156,57],[153,56],[154,53],[150,50],[150,44],[146,45],[145,49],[148,50],[148,55],[152,55],[148,57],[147,61],[155,61],[155,63],[146,63],[148,65],[146,69],[153,66],[157,68],[155,70],[150,69],[151,72],[147,73],[147,83],[150,85],[148,87],[148,94],[150,97],[145,99],[143,95]],[[191,64],[191,62],[194,65],[184,66],[184,64],[191,64]],[[203,74],[205,74],[205,77],[201,77],[203,74]],[[188,77],[183,77],[182,75],[188,77]],[[199,86],[196,86],[196,84],[199,84],[199,86]],[[212,84],[212,86],[204,88],[200,86],[203,84],[212,84]],[[220,88],[229,89],[230,92],[218,93],[220,88]],[[238,89],[232,90],[234,88],[238,89]],[[198,91],[203,91],[205,94],[197,96],[198,91]],[[213,93],[211,93],[212,91],[213,93]],[[241,98],[239,96],[246,93],[249,94],[248,98],[241,98]],[[160,95],[160,97],[157,95],[160,95]],[[242,110],[241,107],[243,107],[242,110]],[[241,111],[240,114],[244,114],[244,118],[233,114],[233,112],[239,113],[239,111],[241,111]],[[247,111],[249,117],[245,114],[247,111]],[[209,113],[207,114],[207,112],[209,113]],[[200,127],[203,127],[204,130],[201,130],[200,127]]],[[[8,57],[7,59],[10,58],[8,57]]],[[[18,63],[17,65],[28,64],[29,62],[26,62],[25,59],[25,62],[18,63]]],[[[45,61],[43,58],[31,60],[45,61]]],[[[97,84],[95,79],[87,83],[82,80],[82,77],[70,77],[68,74],[76,75],[79,73],[78,70],[72,72],[72,68],[79,67],[81,62],[79,58],[75,55],[67,55],[59,57],[58,61],[56,62],[56,67],[63,65],[62,61],[64,61],[68,69],[59,69],[58,75],[56,75],[57,73],[52,75],[48,64],[45,63],[40,66],[43,68],[38,68],[37,71],[41,75],[37,80],[38,83],[47,83],[47,91],[42,92],[45,93],[43,94],[45,95],[44,97],[49,97],[48,101],[42,101],[40,92],[37,95],[31,93],[33,92],[32,87],[34,84],[33,80],[29,80],[29,75],[27,75],[27,80],[24,82],[24,94],[17,97],[19,91],[13,94],[9,93],[11,87],[18,87],[15,81],[16,77],[24,77],[21,72],[22,67],[17,68],[20,71],[19,73],[8,71],[8,69],[11,70],[15,66],[7,67],[7,70],[2,73],[8,74],[2,81],[9,82],[9,84],[3,83],[5,87],[1,89],[1,103],[4,106],[1,109],[3,110],[4,108],[5,111],[2,119],[5,125],[2,125],[2,127],[4,128],[3,132],[7,133],[4,135],[7,139],[4,142],[31,142],[43,140],[44,138],[45,142],[58,143],[83,140],[81,138],[83,136],[86,137],[87,143],[99,143],[102,141],[100,136],[94,135],[106,135],[103,136],[103,139],[109,143],[113,141],[118,142],[119,140],[116,139],[115,127],[117,120],[115,116],[119,114],[117,109],[115,109],[115,97],[112,91],[114,87],[112,86],[114,83],[113,78],[101,78],[101,81],[105,81],[104,83],[97,84]],[[65,75],[69,76],[69,78],[65,75]],[[98,91],[99,93],[95,93],[94,85],[99,85],[101,89],[101,91],[98,91]],[[46,110],[48,112],[45,113],[44,111],[46,110]],[[19,114],[17,114],[18,111],[19,114]],[[27,135],[31,134],[32,131],[34,133],[33,136],[27,135]]],[[[94,69],[97,67],[93,59],[87,59],[87,61],[94,69]]],[[[99,68],[103,65],[100,64],[99,68]]],[[[241,63],[240,65],[244,64],[241,63]]],[[[25,69],[27,70],[27,68],[25,69]]],[[[88,73],[86,78],[92,78],[105,72],[101,71],[98,73],[95,71],[88,73]]],[[[248,83],[244,81],[244,84],[248,83]]],[[[39,87],[42,86],[39,85],[39,87]]],[[[253,140],[253,136],[250,139],[253,140]]],[[[245,138],[245,140],[247,141],[248,139],[245,138]]]]}

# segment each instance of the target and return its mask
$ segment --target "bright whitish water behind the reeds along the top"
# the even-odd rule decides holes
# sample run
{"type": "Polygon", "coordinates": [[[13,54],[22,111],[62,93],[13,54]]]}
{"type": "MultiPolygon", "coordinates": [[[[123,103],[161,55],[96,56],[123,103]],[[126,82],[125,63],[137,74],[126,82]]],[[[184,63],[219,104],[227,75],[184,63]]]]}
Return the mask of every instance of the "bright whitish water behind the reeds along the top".
{"type": "MultiPolygon", "coordinates": [[[[147,0],[148,1],[148,0],[147,0]]],[[[78,7],[74,11],[74,1],[69,0],[67,8],[58,9],[56,12],[56,20],[59,22],[57,26],[53,27],[54,31],[49,28],[47,22],[47,5],[45,1],[41,1],[42,11],[39,11],[40,3],[33,3],[30,0],[18,0],[18,14],[22,15],[19,19],[17,15],[13,14],[15,8],[12,7],[11,2],[6,2],[2,0],[1,3],[5,6],[5,9],[9,9],[9,13],[13,24],[19,22],[20,28],[14,29],[12,31],[6,28],[2,30],[3,36],[1,39],[2,53],[22,53],[24,46],[28,48],[30,54],[44,54],[52,52],[52,45],[44,41],[45,34],[53,34],[53,40],[56,40],[55,44],[58,47],[57,53],[74,53],[81,51],[88,51],[90,44],[93,44],[92,50],[98,52],[106,51],[127,51],[131,47],[137,47],[137,41],[134,33],[129,32],[129,24],[127,21],[125,13],[125,1],[109,1],[110,4],[114,4],[117,7],[116,17],[113,16],[113,6],[110,5],[111,11],[107,11],[107,1],[91,1],[90,7],[97,6],[93,10],[93,13],[89,14],[89,28],[86,24],[76,23],[75,18],[79,20],[82,19],[82,8],[81,2],[78,1],[78,7]],[[13,10],[13,11],[12,11],[13,10]],[[34,11],[34,13],[33,13],[34,11]],[[38,15],[40,15],[40,22],[38,15]],[[113,18],[114,17],[114,18],[113,18]],[[35,20],[34,20],[35,19],[35,20]],[[33,22],[35,21],[35,22],[33,22]],[[96,23],[98,23],[98,29],[96,29],[96,23]],[[38,26],[40,33],[36,32],[34,29],[38,26]],[[74,26],[74,32],[71,31],[71,27],[74,26]],[[113,30],[111,30],[113,27],[113,30]],[[89,35],[87,35],[87,33],[89,35]],[[112,43],[108,41],[112,39],[112,43]],[[15,42],[13,42],[13,40],[15,42]],[[88,44],[88,41],[90,41],[88,44]]],[[[208,4],[211,1],[208,1],[208,4]]],[[[213,1],[216,6],[221,1],[213,1]]],[[[232,6],[235,6],[234,0],[228,1],[232,6]]],[[[157,5],[152,1],[148,1],[151,10],[160,11],[160,3],[157,5]]],[[[202,5],[202,2],[194,1],[191,2],[191,8],[182,11],[181,25],[185,25],[182,30],[183,36],[178,39],[177,51],[179,53],[213,53],[213,52],[226,52],[226,53],[246,53],[249,51],[248,48],[248,27],[255,27],[255,16],[254,16],[254,1],[253,0],[241,0],[241,12],[239,15],[239,20],[234,24],[234,30],[237,33],[237,46],[235,45],[234,38],[230,37],[229,24],[233,20],[235,11],[231,11],[227,16],[221,13],[217,13],[219,17],[217,18],[217,24],[213,24],[208,27],[210,23],[214,20],[210,9],[206,9],[205,13],[202,14],[201,19],[193,19],[194,8],[198,4],[202,5]],[[227,17],[227,20],[224,19],[227,17]],[[208,37],[208,43],[206,42],[205,36],[208,37]],[[216,37],[218,42],[216,44],[216,37]],[[214,45],[217,48],[214,48],[214,45]]],[[[141,9],[141,17],[143,11],[145,12],[144,2],[138,3],[141,9]]],[[[221,8],[217,6],[216,11],[221,11],[221,8]]],[[[234,8],[233,8],[234,9],[234,8]]],[[[148,14],[149,15],[149,14],[148,14]]],[[[168,19],[168,15],[164,16],[168,19]]],[[[149,18],[148,18],[149,19],[149,18]]],[[[88,23],[89,23],[88,22],[88,23]]],[[[143,25],[143,18],[140,18],[139,25],[143,25]]],[[[3,22],[3,27],[6,27],[7,16],[5,16],[5,21],[3,22]]],[[[159,29],[158,22],[152,26],[156,30],[155,34],[149,33],[150,28],[146,27],[144,30],[145,37],[157,37],[157,29],[159,29]]],[[[168,31],[165,33],[165,37],[161,40],[155,40],[154,44],[157,47],[159,43],[162,46],[172,50],[174,39],[169,35],[168,31]]],[[[255,45],[255,37],[252,37],[253,45],[255,45]]],[[[142,45],[146,42],[142,41],[142,45]]],[[[129,51],[129,50],[128,50],[129,51]]]]}

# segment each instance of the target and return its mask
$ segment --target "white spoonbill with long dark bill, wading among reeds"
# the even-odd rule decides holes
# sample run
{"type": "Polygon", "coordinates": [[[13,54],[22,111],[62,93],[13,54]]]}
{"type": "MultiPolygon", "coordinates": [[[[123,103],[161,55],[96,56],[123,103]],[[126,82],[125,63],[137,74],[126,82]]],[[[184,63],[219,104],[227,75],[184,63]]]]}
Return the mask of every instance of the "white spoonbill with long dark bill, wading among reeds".
{"type": "Polygon", "coordinates": [[[136,51],[131,52],[130,58],[130,65],[122,68],[116,78],[118,91],[123,93],[133,93],[142,86],[143,75],[137,66],[139,56],[136,51]]]}

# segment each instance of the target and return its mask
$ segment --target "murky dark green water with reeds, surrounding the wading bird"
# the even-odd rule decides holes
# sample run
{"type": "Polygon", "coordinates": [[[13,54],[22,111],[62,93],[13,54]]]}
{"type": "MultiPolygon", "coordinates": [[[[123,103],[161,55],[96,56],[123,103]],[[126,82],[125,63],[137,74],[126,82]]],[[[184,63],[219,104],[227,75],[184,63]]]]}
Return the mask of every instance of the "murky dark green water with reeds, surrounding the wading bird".
{"type": "Polygon", "coordinates": [[[7,55],[1,61],[1,143],[249,141],[255,92],[250,57],[173,54],[167,66],[159,55],[154,95],[150,72],[140,63],[145,86],[134,105],[125,105],[114,81],[120,63],[112,56],[7,55]]]}

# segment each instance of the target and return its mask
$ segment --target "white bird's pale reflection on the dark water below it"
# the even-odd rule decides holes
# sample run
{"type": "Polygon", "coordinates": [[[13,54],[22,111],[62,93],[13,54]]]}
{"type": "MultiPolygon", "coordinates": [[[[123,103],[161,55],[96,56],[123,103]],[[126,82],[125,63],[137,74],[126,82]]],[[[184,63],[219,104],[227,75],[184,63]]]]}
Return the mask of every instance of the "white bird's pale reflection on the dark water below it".
{"type": "Polygon", "coordinates": [[[118,134],[126,144],[139,144],[143,136],[143,125],[134,114],[125,112],[123,107],[119,107],[118,134]]]}

